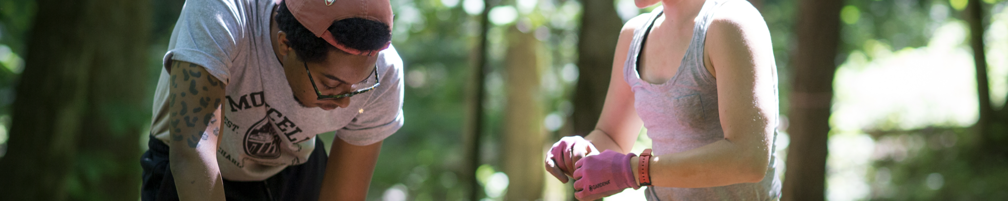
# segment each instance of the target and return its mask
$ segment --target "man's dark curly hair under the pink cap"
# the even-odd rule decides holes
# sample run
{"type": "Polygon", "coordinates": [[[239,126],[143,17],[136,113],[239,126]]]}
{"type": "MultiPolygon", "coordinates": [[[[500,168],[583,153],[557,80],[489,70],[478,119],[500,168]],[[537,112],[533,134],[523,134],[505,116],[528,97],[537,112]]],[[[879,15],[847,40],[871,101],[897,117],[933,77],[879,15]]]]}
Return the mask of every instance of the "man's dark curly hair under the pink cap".
{"type": "MultiPolygon", "coordinates": [[[[304,28],[294,15],[287,9],[286,3],[280,3],[276,11],[277,27],[287,33],[287,45],[297,52],[301,60],[305,62],[318,62],[326,59],[326,52],[330,50],[342,51],[329,44],[325,39],[317,37],[307,28],[304,28]]],[[[388,25],[370,19],[347,18],[329,26],[329,32],[333,33],[333,38],[343,43],[347,47],[360,50],[376,50],[392,39],[392,32],[388,25]]]]}

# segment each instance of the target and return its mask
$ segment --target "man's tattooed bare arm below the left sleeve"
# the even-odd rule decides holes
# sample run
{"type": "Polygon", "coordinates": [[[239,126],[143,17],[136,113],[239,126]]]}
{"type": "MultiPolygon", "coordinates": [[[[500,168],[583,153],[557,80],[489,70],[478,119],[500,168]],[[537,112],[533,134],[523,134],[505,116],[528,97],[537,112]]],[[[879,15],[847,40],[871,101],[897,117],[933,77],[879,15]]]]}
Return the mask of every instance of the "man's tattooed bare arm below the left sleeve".
{"type": "Polygon", "coordinates": [[[203,66],[174,60],[168,82],[168,161],[180,200],[220,200],[224,180],[217,164],[224,82],[203,66]]]}

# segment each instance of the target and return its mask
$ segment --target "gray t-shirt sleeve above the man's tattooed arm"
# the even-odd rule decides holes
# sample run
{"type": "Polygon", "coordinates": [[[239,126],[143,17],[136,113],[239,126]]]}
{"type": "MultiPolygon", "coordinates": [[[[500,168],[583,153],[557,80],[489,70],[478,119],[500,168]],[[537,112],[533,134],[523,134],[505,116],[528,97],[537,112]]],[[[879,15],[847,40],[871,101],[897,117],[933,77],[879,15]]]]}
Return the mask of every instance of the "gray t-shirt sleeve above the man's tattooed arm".
{"type": "Polygon", "coordinates": [[[171,60],[191,62],[228,83],[229,67],[245,30],[240,23],[244,15],[236,6],[227,0],[185,1],[171,31],[164,68],[169,69],[171,60]]]}

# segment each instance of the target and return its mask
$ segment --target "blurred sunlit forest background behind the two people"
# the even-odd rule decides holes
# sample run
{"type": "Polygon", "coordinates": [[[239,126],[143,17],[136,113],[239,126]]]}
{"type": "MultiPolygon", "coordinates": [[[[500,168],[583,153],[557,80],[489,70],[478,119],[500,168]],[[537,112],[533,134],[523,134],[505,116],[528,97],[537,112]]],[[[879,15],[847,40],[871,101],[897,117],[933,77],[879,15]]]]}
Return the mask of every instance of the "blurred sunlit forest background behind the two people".
{"type": "MultiPolygon", "coordinates": [[[[406,124],[369,200],[572,200],[542,154],[594,128],[620,27],[654,7],[391,1],[406,124]]],[[[784,200],[1008,200],[1008,1],[750,2],[790,120],[784,200]]],[[[183,3],[0,0],[0,200],[138,199],[183,3]]]]}

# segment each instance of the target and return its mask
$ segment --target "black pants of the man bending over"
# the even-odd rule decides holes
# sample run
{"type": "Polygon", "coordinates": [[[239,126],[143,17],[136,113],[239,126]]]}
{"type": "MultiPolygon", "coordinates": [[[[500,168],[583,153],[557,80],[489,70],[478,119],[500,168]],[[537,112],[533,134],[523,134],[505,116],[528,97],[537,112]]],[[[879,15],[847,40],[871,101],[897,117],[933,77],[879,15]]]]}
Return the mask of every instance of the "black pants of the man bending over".
{"type": "MultiPolygon", "coordinates": [[[[168,146],[150,137],[150,147],[140,158],[143,168],[143,201],[178,200],[175,181],[168,165],[168,146]]],[[[256,182],[236,182],[224,180],[224,194],[227,200],[319,200],[323,177],[326,174],[326,146],[316,140],[316,149],[308,161],[301,165],[289,166],[276,175],[256,182]]]]}

